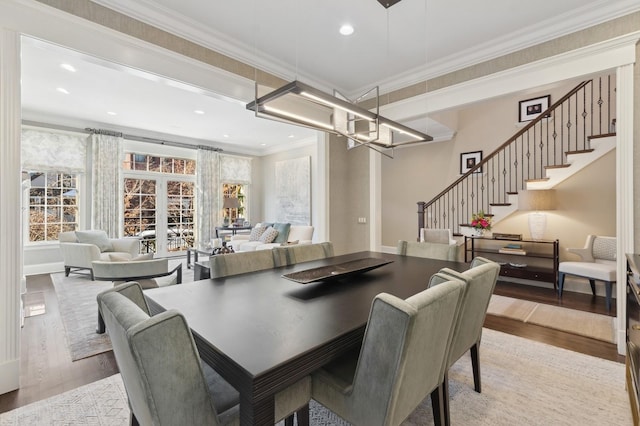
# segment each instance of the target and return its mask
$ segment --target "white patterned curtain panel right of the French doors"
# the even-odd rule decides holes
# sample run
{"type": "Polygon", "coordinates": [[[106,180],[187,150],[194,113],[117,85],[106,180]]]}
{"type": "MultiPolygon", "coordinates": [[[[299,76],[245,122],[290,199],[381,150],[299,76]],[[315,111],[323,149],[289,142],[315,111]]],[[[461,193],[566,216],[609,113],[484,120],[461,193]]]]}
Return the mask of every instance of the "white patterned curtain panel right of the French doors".
{"type": "Polygon", "coordinates": [[[220,154],[210,149],[198,149],[196,176],[196,238],[204,243],[215,238],[216,225],[222,221],[219,205],[220,154]]]}

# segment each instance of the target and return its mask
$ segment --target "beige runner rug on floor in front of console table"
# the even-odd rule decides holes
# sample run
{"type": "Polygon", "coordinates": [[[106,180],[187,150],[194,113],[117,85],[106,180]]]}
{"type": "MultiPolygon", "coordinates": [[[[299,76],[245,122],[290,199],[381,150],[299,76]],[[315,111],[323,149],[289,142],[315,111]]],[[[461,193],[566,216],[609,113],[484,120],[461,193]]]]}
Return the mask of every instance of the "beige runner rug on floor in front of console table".
{"type": "Polygon", "coordinates": [[[487,313],[615,343],[615,318],[494,294],[487,313]]]}

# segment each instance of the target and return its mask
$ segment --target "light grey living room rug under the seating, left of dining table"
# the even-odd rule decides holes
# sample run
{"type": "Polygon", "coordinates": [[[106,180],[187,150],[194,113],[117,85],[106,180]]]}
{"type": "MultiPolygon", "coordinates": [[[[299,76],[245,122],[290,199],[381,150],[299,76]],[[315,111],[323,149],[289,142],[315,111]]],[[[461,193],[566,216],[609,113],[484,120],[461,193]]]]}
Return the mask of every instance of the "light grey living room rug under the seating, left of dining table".
{"type": "MultiPolygon", "coordinates": [[[[182,265],[182,282],[193,281],[193,269],[187,269],[183,259],[174,259],[169,267],[182,265]]],[[[108,334],[96,333],[98,302],[96,296],[113,287],[110,281],[91,281],[87,275],[51,274],[58,298],[58,309],[64,324],[71,359],[77,361],[111,350],[108,334]]]]}

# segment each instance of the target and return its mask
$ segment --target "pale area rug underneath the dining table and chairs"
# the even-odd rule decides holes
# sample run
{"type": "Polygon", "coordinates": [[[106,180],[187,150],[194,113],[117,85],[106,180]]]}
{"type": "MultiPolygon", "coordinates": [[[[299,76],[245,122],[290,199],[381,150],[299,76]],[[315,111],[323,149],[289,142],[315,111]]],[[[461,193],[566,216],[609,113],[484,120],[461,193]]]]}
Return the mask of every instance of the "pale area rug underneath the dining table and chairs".
{"type": "MultiPolygon", "coordinates": [[[[451,424],[631,425],[624,364],[484,329],[482,393],[473,390],[468,356],[450,370],[451,424]]],[[[311,424],[348,423],[311,401],[311,424]]],[[[120,375],[0,414],[0,425],[127,425],[120,375]]],[[[280,423],[282,424],[282,423],[280,423]]],[[[431,399],[403,423],[432,425],[431,399]]]]}

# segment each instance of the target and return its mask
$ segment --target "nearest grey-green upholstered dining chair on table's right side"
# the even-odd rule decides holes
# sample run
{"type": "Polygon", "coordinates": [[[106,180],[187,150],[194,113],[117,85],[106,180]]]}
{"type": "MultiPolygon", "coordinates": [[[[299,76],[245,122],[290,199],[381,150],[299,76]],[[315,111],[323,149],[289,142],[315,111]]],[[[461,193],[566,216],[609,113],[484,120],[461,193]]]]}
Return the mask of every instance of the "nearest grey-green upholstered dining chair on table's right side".
{"type": "Polygon", "coordinates": [[[362,348],[312,374],[312,398],[355,425],[399,425],[431,395],[443,421],[442,383],[464,284],[443,283],[406,300],[373,300],[362,348]]]}

